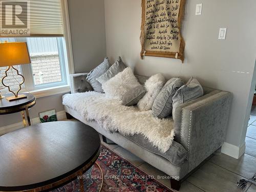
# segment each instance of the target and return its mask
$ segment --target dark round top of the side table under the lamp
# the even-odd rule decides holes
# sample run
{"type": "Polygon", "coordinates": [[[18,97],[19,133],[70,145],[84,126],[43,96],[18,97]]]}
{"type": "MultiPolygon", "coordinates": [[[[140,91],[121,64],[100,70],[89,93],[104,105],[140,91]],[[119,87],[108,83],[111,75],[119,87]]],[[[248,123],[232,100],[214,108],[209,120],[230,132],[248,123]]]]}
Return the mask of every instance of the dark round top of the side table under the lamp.
{"type": "MultiPolygon", "coordinates": [[[[20,93],[20,95],[26,95],[27,98],[19,99],[15,101],[8,101],[6,98],[0,99],[0,114],[8,114],[8,112],[4,112],[5,110],[9,110],[11,113],[23,111],[25,106],[34,102],[36,100],[35,96],[30,93],[20,93]]],[[[5,97],[13,96],[13,94],[5,94],[5,97]]],[[[31,108],[34,105],[30,105],[31,108]]]]}

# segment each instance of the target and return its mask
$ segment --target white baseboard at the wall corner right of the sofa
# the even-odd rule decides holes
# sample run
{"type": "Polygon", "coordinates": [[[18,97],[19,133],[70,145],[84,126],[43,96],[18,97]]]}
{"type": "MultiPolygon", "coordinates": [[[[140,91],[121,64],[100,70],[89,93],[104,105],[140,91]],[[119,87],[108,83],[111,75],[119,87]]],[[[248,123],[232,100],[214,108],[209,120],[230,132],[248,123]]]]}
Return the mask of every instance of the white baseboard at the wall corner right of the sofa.
{"type": "Polygon", "coordinates": [[[239,159],[245,152],[245,142],[240,147],[224,142],[221,147],[221,153],[226,154],[230,157],[239,159]]]}

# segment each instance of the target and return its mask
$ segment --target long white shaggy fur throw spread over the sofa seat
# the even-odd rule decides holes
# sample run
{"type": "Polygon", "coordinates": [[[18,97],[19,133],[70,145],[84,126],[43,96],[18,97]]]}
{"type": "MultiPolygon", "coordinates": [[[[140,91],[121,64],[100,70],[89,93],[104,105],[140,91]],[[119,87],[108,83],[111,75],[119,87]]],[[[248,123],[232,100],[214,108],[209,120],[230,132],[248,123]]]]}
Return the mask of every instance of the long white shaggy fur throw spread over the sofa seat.
{"type": "Polygon", "coordinates": [[[67,94],[64,105],[76,110],[87,121],[96,121],[103,129],[129,136],[141,134],[165,153],[173,143],[173,119],[158,119],[152,111],[139,111],[137,106],[124,106],[121,101],[96,92],[67,94]]]}

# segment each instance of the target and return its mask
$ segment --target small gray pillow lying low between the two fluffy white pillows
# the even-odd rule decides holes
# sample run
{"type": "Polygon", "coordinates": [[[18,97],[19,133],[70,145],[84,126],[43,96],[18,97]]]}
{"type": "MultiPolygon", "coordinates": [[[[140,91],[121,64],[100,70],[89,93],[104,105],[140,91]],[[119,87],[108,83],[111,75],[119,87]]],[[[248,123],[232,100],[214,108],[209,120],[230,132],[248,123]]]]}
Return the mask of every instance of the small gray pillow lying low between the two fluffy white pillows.
{"type": "Polygon", "coordinates": [[[126,106],[132,106],[139,102],[145,95],[146,90],[143,86],[137,86],[134,89],[127,91],[122,97],[122,103],[126,106]]]}

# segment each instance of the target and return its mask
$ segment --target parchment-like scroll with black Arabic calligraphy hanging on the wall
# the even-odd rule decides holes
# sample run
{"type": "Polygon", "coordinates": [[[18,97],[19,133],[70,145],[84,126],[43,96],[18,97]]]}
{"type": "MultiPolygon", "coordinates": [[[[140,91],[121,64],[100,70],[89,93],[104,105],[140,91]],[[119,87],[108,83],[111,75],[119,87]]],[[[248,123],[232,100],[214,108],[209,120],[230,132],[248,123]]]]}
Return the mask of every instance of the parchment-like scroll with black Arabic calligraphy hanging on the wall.
{"type": "Polygon", "coordinates": [[[181,20],[185,0],[142,0],[141,53],[184,61],[181,20]]]}

